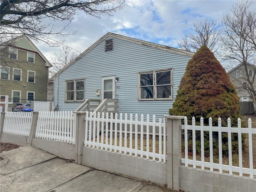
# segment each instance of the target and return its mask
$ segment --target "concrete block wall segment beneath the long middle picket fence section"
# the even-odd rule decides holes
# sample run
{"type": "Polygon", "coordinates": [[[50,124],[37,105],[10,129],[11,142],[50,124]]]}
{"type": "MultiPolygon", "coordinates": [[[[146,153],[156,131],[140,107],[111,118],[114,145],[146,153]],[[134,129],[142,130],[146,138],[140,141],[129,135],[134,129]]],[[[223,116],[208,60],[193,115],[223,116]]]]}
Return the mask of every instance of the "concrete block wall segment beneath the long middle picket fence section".
{"type": "Polygon", "coordinates": [[[83,147],[82,164],[140,180],[167,184],[167,164],[83,147]]]}

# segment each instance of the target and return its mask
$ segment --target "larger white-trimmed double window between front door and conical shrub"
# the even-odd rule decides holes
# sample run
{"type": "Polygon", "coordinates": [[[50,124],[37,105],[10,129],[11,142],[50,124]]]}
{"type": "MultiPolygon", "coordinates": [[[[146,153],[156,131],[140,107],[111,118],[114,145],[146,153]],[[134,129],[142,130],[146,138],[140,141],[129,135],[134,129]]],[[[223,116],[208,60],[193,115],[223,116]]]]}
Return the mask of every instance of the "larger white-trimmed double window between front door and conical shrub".
{"type": "Polygon", "coordinates": [[[173,100],[173,69],[138,73],[138,100],[173,100]]]}

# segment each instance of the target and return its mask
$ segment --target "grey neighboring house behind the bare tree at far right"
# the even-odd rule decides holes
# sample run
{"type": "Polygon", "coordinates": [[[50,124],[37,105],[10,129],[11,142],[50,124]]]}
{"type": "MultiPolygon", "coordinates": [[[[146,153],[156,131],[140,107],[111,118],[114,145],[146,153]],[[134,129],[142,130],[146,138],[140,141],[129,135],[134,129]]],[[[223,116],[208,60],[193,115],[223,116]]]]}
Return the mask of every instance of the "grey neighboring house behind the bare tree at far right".
{"type": "Polygon", "coordinates": [[[249,82],[247,77],[249,77],[250,82],[252,82],[253,87],[256,89],[256,66],[247,64],[247,72],[248,76],[246,76],[246,70],[243,64],[237,65],[228,72],[231,82],[236,87],[240,101],[252,101],[252,93],[250,92],[250,86],[248,86],[249,82]]]}

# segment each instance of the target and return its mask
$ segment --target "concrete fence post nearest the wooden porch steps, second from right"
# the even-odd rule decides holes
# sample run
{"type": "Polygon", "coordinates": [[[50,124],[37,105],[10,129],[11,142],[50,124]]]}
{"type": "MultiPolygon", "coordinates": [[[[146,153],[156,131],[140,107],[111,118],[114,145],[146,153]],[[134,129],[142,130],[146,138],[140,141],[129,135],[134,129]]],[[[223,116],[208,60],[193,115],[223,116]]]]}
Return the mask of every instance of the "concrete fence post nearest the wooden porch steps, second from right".
{"type": "Polygon", "coordinates": [[[75,142],[75,163],[82,164],[82,154],[85,139],[85,111],[73,112],[76,114],[76,142],[75,142]]]}

